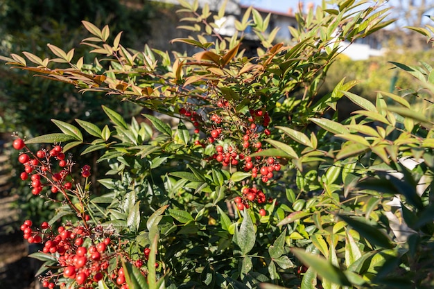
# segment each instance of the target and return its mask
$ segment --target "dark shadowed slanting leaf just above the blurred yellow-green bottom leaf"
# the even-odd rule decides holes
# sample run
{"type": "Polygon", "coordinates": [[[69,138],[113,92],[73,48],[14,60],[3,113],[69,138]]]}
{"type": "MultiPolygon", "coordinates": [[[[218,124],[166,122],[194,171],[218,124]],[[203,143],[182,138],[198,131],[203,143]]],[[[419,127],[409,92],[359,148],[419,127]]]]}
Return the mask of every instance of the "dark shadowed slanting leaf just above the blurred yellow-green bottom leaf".
{"type": "Polygon", "coordinates": [[[383,248],[393,247],[392,243],[390,243],[389,237],[372,225],[369,225],[366,222],[355,220],[354,218],[350,218],[349,216],[339,215],[339,218],[347,222],[348,225],[353,227],[353,229],[356,230],[358,234],[361,234],[361,236],[368,240],[372,245],[377,245],[383,248]]]}

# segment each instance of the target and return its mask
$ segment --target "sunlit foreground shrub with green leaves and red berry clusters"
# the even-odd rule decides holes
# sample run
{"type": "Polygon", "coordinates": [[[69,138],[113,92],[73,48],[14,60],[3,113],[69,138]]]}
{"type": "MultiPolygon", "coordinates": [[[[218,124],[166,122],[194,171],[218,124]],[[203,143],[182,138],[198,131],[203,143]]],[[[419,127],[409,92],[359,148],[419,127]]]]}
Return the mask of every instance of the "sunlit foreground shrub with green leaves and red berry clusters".
{"type": "MultiPolygon", "coordinates": [[[[200,51],[192,56],[175,53],[171,60],[148,46],[128,49],[121,34],[112,38],[108,26],[83,21],[92,34],[83,44],[96,54],[90,63],[57,46],[50,46],[55,58],[3,58],[179,120],[174,127],[150,114],[126,121],[103,106],[111,125],[53,120],[61,132],[17,145],[24,149],[19,161],[42,179],[32,182],[35,194],[53,201],[46,187],[54,187],[62,202],[48,227],[24,224],[24,234],[31,233],[25,237],[58,238],[49,226],[65,216],[71,222],[59,233],[76,234],[65,238],[67,256],[51,252],[52,243],[37,254],[62,266],[46,285],[431,288],[433,122],[401,96],[385,91],[372,103],[349,92],[356,81],[341,80],[317,97],[339,42],[386,26],[387,9],[335,1],[297,15],[300,26],[290,28],[295,43],[286,46],[273,44],[275,32],[265,33],[270,17],[252,8],[236,22],[236,35],[224,37],[214,23],[224,7],[211,15],[197,1],[180,3],[188,13],[183,28],[198,34],[173,41],[200,51]],[[243,55],[248,26],[262,45],[253,58],[243,55]],[[338,122],[333,112],[341,98],[360,110],[338,122]],[[44,157],[28,150],[59,141],[62,147],[44,157]],[[73,147],[82,155],[101,151],[98,162],[110,166],[98,179],[107,189],[102,195],[89,193],[89,168],[80,164],[81,178],[71,178],[76,161],[61,165],[58,152],[73,147]],[[75,244],[81,227],[89,251],[110,236],[103,257],[87,254],[84,265],[73,257],[83,254],[75,244]]],[[[428,64],[394,65],[433,91],[428,64]]]]}

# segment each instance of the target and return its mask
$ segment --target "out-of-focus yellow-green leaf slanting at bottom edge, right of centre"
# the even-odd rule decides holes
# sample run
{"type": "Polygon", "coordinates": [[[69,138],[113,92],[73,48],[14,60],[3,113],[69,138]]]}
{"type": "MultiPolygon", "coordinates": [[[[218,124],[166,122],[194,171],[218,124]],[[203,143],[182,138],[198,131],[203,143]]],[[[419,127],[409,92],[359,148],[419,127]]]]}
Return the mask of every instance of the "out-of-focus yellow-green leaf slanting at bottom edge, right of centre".
{"type": "Polygon", "coordinates": [[[304,249],[293,248],[291,251],[302,263],[309,268],[313,268],[320,277],[340,286],[351,286],[345,274],[339,268],[331,265],[326,259],[307,253],[304,249]]]}

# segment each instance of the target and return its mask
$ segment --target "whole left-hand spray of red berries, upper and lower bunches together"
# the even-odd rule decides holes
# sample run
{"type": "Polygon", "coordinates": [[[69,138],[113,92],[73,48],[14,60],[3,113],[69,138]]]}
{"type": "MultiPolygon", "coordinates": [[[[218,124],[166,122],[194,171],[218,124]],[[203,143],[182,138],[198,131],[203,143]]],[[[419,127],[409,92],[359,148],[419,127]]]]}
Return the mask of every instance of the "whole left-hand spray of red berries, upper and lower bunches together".
{"type": "MultiPolygon", "coordinates": [[[[144,249],[143,254],[132,256],[125,252],[123,245],[128,242],[119,240],[119,245],[112,242],[113,231],[101,225],[94,225],[85,210],[77,209],[72,202],[71,195],[78,199],[80,204],[85,195],[71,176],[74,162],[71,156],[67,159],[62,151],[62,146],[55,145],[51,150],[41,149],[36,153],[31,152],[20,138],[12,143],[16,150],[21,152],[18,161],[23,164],[24,172],[20,177],[23,180],[31,179],[32,193],[40,195],[47,187],[51,193],[62,193],[64,202],[70,204],[79,218],[75,225],[67,222],[66,225],[53,229],[48,222],[42,222],[39,227],[32,228],[33,222],[26,220],[21,225],[23,236],[29,243],[42,243],[42,253],[53,256],[58,261],[57,272],[49,271],[42,277],[42,285],[45,288],[96,288],[96,283],[102,279],[110,280],[117,288],[128,289],[125,282],[123,268],[120,268],[121,260],[126,260],[141,270],[146,275],[144,268],[150,254],[150,249],[144,249]],[[114,268],[114,269],[113,269],[114,268]],[[67,285],[68,284],[68,285],[67,285]]],[[[81,176],[87,178],[91,175],[91,167],[85,165],[81,168],[81,176]]],[[[46,198],[50,198],[48,194],[46,198]]],[[[76,202],[76,200],[74,200],[76,202]]],[[[83,207],[84,208],[84,207],[83,207]]],[[[158,263],[155,263],[158,267],[158,263]]]]}

